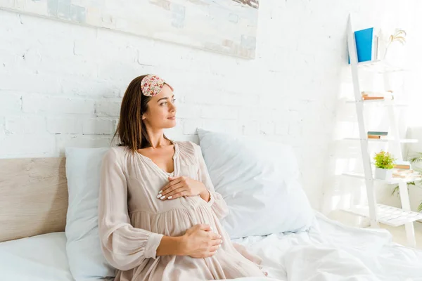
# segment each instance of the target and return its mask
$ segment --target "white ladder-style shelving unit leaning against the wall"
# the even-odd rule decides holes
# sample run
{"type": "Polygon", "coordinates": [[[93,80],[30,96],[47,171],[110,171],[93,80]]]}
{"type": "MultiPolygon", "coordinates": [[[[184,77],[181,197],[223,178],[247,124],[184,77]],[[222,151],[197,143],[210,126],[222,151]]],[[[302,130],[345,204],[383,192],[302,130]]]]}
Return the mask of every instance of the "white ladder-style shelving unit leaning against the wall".
{"type": "MultiPolygon", "coordinates": [[[[354,100],[352,103],[356,105],[357,122],[359,125],[359,138],[347,138],[360,141],[360,147],[362,152],[362,160],[364,165],[364,174],[356,173],[344,173],[345,176],[352,176],[357,178],[364,178],[366,183],[366,195],[368,199],[368,205],[366,206],[354,206],[345,211],[349,211],[352,214],[359,216],[368,217],[371,221],[371,227],[379,227],[378,223],[384,223],[389,226],[402,226],[405,225],[407,241],[409,246],[415,247],[415,235],[413,222],[422,219],[422,214],[410,210],[409,192],[407,190],[407,184],[413,179],[399,179],[394,178],[392,181],[385,181],[388,184],[399,185],[399,195],[402,203],[402,209],[385,206],[383,204],[377,204],[376,192],[374,189],[374,181],[378,181],[373,178],[372,166],[371,166],[371,155],[369,155],[369,142],[370,141],[381,141],[388,142],[389,147],[395,150],[394,157],[398,160],[403,159],[402,145],[401,143],[413,143],[417,140],[400,139],[399,128],[397,124],[395,106],[393,100],[362,100],[361,87],[359,84],[359,69],[362,68],[373,68],[376,72],[391,72],[399,71],[399,69],[388,65],[383,60],[373,60],[370,62],[358,63],[357,61],[357,48],[356,41],[354,38],[354,30],[352,28],[352,17],[349,15],[347,23],[347,47],[350,55],[350,67],[352,70],[352,83],[354,90],[354,100]],[[390,131],[388,139],[369,139],[366,133],[364,125],[364,104],[365,103],[383,103],[386,105],[385,108],[388,110],[390,131]]],[[[388,77],[384,75],[384,86],[389,89],[388,77]]]]}

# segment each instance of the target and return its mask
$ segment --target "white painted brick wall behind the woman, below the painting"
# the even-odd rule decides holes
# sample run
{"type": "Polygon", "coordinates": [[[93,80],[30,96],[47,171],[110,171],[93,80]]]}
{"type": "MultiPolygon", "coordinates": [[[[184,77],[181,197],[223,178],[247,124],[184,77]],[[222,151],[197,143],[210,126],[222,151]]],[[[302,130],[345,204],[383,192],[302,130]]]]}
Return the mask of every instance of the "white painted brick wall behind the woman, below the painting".
{"type": "Polygon", "coordinates": [[[381,3],[261,1],[256,60],[0,11],[0,157],[108,145],[127,84],[155,73],[176,89],[170,137],[203,126],[291,144],[318,208],[347,14],[381,3]]]}

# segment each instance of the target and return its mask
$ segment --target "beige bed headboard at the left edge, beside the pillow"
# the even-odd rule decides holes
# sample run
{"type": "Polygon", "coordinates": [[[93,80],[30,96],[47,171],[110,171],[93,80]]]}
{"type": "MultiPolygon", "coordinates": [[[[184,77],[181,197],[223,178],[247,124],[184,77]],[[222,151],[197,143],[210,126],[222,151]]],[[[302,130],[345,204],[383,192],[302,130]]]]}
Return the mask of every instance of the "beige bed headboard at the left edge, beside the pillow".
{"type": "Polygon", "coordinates": [[[0,242],[64,231],[65,158],[0,159],[0,242]]]}

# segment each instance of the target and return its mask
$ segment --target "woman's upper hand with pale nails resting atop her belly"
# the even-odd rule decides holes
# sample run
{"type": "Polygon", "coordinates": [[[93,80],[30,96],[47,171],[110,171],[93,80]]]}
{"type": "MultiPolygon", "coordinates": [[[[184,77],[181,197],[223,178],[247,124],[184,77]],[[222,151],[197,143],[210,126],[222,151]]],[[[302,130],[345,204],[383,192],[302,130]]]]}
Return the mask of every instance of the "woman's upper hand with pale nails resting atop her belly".
{"type": "Polygon", "coordinates": [[[186,176],[169,177],[169,181],[157,195],[160,200],[173,200],[181,196],[200,195],[205,202],[210,201],[210,192],[200,181],[186,176]]]}

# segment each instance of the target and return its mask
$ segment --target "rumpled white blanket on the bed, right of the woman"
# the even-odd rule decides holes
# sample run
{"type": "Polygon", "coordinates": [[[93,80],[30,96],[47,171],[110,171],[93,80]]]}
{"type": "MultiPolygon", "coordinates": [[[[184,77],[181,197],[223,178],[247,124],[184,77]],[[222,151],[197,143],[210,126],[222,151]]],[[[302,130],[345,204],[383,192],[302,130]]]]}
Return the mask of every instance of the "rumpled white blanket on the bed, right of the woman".
{"type": "Polygon", "coordinates": [[[238,281],[422,281],[422,251],[387,230],[351,228],[316,215],[306,233],[235,240],[262,257],[271,278],[238,281]]]}

